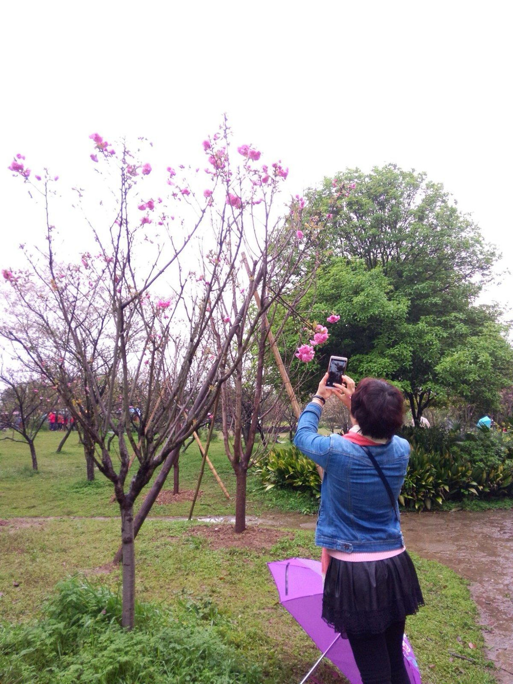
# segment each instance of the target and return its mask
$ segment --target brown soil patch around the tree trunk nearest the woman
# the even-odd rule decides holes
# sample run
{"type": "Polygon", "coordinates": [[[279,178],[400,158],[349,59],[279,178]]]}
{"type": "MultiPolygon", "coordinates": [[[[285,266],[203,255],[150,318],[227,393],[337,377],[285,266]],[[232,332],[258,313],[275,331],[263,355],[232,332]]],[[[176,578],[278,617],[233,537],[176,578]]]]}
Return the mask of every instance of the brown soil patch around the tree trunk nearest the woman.
{"type": "Polygon", "coordinates": [[[196,525],[187,530],[188,535],[204,537],[211,549],[270,549],[282,538],[293,539],[292,533],[283,533],[269,527],[246,527],[244,532],[235,532],[233,525],[196,525]]]}

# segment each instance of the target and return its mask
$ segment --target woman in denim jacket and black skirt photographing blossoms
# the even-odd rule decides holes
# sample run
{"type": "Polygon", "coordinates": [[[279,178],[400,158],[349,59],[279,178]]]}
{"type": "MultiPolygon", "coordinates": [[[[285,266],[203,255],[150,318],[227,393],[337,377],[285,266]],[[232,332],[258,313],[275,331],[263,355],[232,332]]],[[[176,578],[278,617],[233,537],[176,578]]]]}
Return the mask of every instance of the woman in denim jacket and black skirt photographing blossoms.
{"type": "Polygon", "coordinates": [[[397,435],[404,397],[365,378],[326,387],[328,373],[299,419],[294,444],[324,469],[315,543],[326,572],[322,617],[346,637],[363,684],[409,684],[402,640],[407,615],[423,605],[417,573],[404,548],[397,497],[408,442],[397,435]],[[351,430],[317,433],[326,399],[351,412],[351,430]]]}

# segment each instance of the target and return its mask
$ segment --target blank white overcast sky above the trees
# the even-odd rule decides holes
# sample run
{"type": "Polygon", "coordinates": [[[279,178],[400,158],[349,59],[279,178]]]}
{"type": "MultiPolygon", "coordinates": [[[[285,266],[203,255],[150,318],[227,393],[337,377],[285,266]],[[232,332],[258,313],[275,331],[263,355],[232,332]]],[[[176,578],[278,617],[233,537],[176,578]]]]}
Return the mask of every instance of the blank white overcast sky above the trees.
{"type": "MultiPolygon", "coordinates": [[[[237,144],[289,166],[291,194],[347,166],[425,171],[510,263],[511,3],[6,4],[1,267],[42,229],[7,170],[14,154],[75,185],[98,131],[144,135],[174,166],[224,111],[237,144]]],[[[488,296],[508,306],[512,289],[508,276],[488,296]]]]}

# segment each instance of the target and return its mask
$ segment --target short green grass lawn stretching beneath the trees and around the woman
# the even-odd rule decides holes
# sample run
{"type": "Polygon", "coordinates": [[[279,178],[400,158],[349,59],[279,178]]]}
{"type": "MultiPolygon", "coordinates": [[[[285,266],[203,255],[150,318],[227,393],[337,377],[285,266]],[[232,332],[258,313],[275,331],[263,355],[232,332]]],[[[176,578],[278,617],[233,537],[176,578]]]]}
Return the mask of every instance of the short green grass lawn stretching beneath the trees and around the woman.
{"type": "MultiPolygon", "coordinates": [[[[114,591],[119,588],[119,569],[103,567],[119,542],[117,505],[109,503],[111,486],[99,474],[87,484],[77,436],[70,436],[63,453],[56,454],[60,437],[44,432],[38,438],[38,474],[31,472],[27,447],[0,442],[0,518],[6,523],[0,526],[3,620],[37,619],[55,583],[75,573],[114,591]],[[50,519],[12,520],[29,516],[50,519]]],[[[220,443],[213,444],[211,458],[233,494],[235,479],[220,443]]],[[[182,490],[194,488],[199,463],[198,450],[189,447],[181,458],[182,490]]],[[[226,501],[208,470],[201,489],[195,516],[233,514],[233,501],[226,501]]],[[[266,497],[250,478],[248,515],[276,514],[280,501],[279,496],[266,497]]],[[[184,516],[189,505],[155,505],[152,516],[184,516]]],[[[170,605],[181,616],[194,611],[207,622],[218,620],[226,642],[260,664],[265,683],[300,681],[318,651],[279,605],[266,562],[293,555],[319,557],[313,531],[273,530],[263,535],[268,538],[261,546],[234,547],[214,544],[197,527],[185,521],[146,521],[136,542],[137,599],[170,605]]],[[[408,619],[407,631],[423,683],[491,684],[466,582],[445,566],[414,560],[427,605],[408,619]],[[453,658],[450,652],[473,662],[453,658]]],[[[342,681],[328,663],[315,676],[324,684],[342,681]]]]}

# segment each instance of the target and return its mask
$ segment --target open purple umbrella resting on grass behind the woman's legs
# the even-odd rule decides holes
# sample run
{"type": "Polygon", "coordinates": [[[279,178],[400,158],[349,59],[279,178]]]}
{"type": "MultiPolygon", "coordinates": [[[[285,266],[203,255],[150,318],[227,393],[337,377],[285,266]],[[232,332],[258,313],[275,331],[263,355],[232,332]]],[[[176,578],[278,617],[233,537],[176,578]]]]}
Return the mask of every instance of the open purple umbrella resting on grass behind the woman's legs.
{"type": "MultiPolygon", "coordinates": [[[[342,639],[321,618],[323,580],[320,562],[308,558],[289,558],[267,565],[276,582],[280,603],[299,622],[322,653],[300,684],[306,682],[324,657],[330,659],[351,684],[362,684],[349,642],[342,639]]],[[[419,667],[406,634],[403,639],[403,653],[410,683],[421,684],[419,667]]]]}

